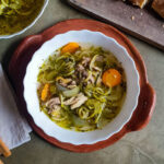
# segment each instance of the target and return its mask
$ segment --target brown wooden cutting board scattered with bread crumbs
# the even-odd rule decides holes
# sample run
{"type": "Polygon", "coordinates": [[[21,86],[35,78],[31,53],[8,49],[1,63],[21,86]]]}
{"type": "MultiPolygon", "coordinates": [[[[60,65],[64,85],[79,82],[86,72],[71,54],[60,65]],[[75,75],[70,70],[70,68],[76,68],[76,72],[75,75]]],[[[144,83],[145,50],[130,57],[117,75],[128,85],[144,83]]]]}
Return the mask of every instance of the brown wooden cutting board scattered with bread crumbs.
{"type": "Polygon", "coordinates": [[[164,20],[150,5],[139,9],[121,0],[68,0],[68,2],[164,50],[164,20]]]}

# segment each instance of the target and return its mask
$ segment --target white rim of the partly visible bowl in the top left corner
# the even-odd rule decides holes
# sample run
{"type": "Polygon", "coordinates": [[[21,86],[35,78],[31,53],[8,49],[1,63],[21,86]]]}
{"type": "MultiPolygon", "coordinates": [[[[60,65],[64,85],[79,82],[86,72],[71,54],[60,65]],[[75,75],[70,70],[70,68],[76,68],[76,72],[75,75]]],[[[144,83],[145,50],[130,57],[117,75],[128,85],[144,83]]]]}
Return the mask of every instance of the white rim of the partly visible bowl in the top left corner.
{"type": "Polygon", "coordinates": [[[20,32],[16,32],[16,33],[13,33],[13,34],[9,34],[9,35],[0,35],[0,39],[12,38],[14,36],[21,35],[24,32],[26,32],[27,30],[30,30],[39,20],[39,17],[44,13],[46,7],[48,5],[49,0],[44,0],[44,1],[45,2],[44,2],[43,7],[40,9],[40,12],[38,13],[38,15],[35,17],[35,20],[31,24],[28,24],[25,28],[21,30],[20,32]]]}

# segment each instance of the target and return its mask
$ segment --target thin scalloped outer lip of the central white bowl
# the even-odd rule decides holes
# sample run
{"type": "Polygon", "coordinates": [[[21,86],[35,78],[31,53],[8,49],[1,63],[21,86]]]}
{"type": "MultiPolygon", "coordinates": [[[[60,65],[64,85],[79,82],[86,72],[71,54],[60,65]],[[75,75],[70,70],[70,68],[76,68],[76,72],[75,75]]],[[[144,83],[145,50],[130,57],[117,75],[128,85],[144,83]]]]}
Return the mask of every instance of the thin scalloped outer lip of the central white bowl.
{"type": "MultiPolygon", "coordinates": [[[[65,35],[65,34],[70,33],[70,32],[81,32],[81,31],[86,31],[86,32],[90,32],[90,33],[98,33],[98,34],[101,34],[101,35],[103,35],[103,36],[105,36],[105,37],[107,37],[107,38],[113,39],[113,42],[114,42],[119,48],[121,48],[124,51],[126,51],[126,56],[132,61],[133,69],[134,69],[134,71],[136,71],[136,73],[137,73],[137,77],[138,77],[138,78],[137,78],[137,80],[138,80],[138,81],[137,81],[137,86],[138,86],[137,101],[136,101],[136,104],[133,105],[133,108],[131,108],[131,114],[130,114],[129,118],[128,118],[126,121],[121,122],[121,126],[119,127],[119,129],[115,130],[110,136],[108,136],[107,138],[104,138],[104,139],[103,139],[103,140],[106,140],[106,139],[110,138],[113,134],[115,134],[115,133],[117,133],[118,131],[120,131],[120,130],[122,129],[122,127],[130,120],[130,118],[131,118],[133,112],[136,110],[136,107],[137,107],[137,105],[138,105],[139,93],[140,93],[140,84],[139,84],[140,77],[139,77],[139,72],[138,72],[138,70],[137,70],[137,66],[136,66],[136,63],[134,63],[132,57],[130,57],[130,55],[128,54],[127,49],[126,49],[124,46],[121,46],[120,44],[118,44],[118,42],[116,42],[116,39],[114,39],[113,37],[109,37],[109,36],[105,35],[105,34],[103,34],[102,32],[93,32],[93,31],[89,31],[89,30],[68,31],[68,32],[66,32],[66,33],[58,34],[58,35],[65,35]]],[[[58,35],[56,35],[55,37],[57,37],[58,35]]],[[[51,39],[54,39],[54,37],[52,37],[51,39]]],[[[45,44],[47,44],[48,42],[50,42],[51,39],[45,42],[45,43],[42,45],[42,47],[43,47],[45,44]]],[[[42,48],[42,47],[40,47],[40,48],[42,48]]],[[[39,49],[40,49],[40,48],[39,48],[39,49]]],[[[39,49],[37,49],[37,51],[38,51],[39,49]]],[[[35,51],[35,54],[36,54],[37,51],[35,51]]],[[[33,58],[35,57],[35,54],[33,55],[31,61],[32,61],[33,58]]],[[[48,56],[49,56],[49,55],[48,55],[48,56]]],[[[30,61],[28,65],[27,65],[26,72],[27,72],[27,70],[28,70],[28,66],[30,66],[31,61],[30,61]]],[[[26,72],[25,72],[25,77],[26,77],[26,72]]],[[[25,85],[25,77],[24,77],[24,79],[23,79],[23,84],[24,84],[24,85],[25,85]]],[[[25,92],[23,93],[23,96],[24,96],[24,99],[25,99],[25,103],[26,103],[26,106],[27,106],[27,112],[28,112],[28,114],[32,116],[32,114],[31,114],[30,110],[28,110],[28,105],[27,105],[27,101],[26,101],[26,97],[25,97],[25,92]]],[[[33,117],[33,116],[32,116],[32,117],[33,117]]],[[[35,121],[35,119],[34,119],[34,122],[37,125],[37,122],[35,121]]],[[[38,126],[38,125],[37,125],[37,126],[38,126]]],[[[42,128],[40,126],[38,126],[38,127],[42,128]]],[[[43,130],[45,133],[47,133],[43,128],[42,128],[42,130],[43,130]]],[[[48,136],[49,136],[49,134],[48,134],[48,136]]],[[[50,136],[50,137],[52,137],[52,136],[50,136]]],[[[52,137],[52,138],[55,138],[55,137],[52,137]]],[[[56,138],[56,139],[57,139],[57,138],[56,138]]],[[[59,140],[59,139],[58,139],[58,140],[59,140]]],[[[79,144],[79,143],[78,143],[78,144],[77,144],[77,143],[72,143],[72,144],[74,144],[74,145],[94,144],[94,143],[99,142],[99,141],[103,141],[103,140],[96,140],[95,142],[92,142],[92,143],[80,143],[80,144],[79,144]]],[[[61,141],[61,140],[59,140],[59,141],[60,141],[60,142],[66,142],[66,141],[61,141]]],[[[67,142],[67,143],[71,143],[71,142],[67,142]]]]}

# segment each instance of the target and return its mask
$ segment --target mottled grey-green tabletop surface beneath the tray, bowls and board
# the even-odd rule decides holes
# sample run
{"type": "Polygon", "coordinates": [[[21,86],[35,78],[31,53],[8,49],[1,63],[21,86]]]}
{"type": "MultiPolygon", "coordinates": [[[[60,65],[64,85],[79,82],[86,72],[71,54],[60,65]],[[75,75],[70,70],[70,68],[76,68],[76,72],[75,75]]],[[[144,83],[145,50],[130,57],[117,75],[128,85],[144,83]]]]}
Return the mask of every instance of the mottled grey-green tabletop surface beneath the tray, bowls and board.
{"type": "MultiPolygon", "coordinates": [[[[50,0],[38,22],[26,33],[0,40],[0,60],[12,56],[23,37],[42,32],[59,21],[89,17],[60,0],[50,0]]],[[[128,36],[128,35],[127,35],[128,36]]],[[[128,36],[141,52],[150,83],[156,91],[157,102],[150,124],[141,131],[131,132],[120,141],[93,153],[72,153],[56,148],[32,133],[31,142],[2,159],[5,164],[164,164],[164,52],[128,36]]]]}

